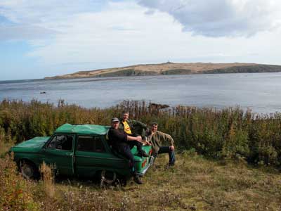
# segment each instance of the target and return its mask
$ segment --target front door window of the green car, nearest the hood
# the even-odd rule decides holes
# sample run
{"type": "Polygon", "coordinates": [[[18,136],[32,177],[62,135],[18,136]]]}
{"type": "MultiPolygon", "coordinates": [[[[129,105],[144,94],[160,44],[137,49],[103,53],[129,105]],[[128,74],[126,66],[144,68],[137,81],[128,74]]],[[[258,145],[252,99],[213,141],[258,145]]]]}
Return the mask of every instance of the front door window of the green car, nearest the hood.
{"type": "Polygon", "coordinates": [[[72,143],[73,143],[72,135],[67,135],[67,134],[55,135],[48,143],[47,148],[56,148],[64,151],[71,151],[72,143]]]}

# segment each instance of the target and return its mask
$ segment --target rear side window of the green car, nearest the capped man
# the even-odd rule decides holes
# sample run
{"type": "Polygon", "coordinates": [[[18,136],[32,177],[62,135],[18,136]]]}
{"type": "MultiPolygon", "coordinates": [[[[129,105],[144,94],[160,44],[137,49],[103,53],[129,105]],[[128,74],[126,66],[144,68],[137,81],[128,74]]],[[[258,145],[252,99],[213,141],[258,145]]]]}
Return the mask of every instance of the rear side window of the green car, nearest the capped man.
{"type": "Polygon", "coordinates": [[[77,151],[105,152],[103,141],[98,136],[78,136],[77,151]]]}

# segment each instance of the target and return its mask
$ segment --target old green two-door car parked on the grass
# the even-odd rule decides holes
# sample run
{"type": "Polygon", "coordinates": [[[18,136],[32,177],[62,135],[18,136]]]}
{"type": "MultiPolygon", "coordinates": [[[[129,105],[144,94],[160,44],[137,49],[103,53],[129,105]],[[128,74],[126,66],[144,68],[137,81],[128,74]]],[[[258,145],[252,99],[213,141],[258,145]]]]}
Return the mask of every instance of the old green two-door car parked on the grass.
{"type": "MultiPolygon", "coordinates": [[[[83,124],[63,124],[55,130],[53,136],[35,137],[11,148],[15,162],[22,175],[27,179],[39,177],[39,166],[45,162],[53,165],[55,172],[67,177],[100,177],[110,184],[117,179],[129,179],[129,161],[118,155],[107,143],[110,127],[83,124]]],[[[143,146],[150,156],[138,157],[136,146],[131,149],[136,170],[145,174],[153,157],[151,146],[143,146]]]]}

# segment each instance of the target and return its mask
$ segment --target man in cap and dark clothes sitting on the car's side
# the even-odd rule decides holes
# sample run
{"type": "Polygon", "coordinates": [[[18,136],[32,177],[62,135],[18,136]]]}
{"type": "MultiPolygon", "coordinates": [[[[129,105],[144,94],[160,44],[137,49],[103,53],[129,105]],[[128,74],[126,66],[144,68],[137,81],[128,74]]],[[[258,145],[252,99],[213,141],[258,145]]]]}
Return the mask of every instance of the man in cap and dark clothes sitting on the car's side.
{"type": "Polygon", "coordinates": [[[133,181],[137,184],[142,184],[143,182],[136,174],[134,169],[135,159],[133,158],[133,153],[131,153],[131,148],[136,146],[138,149],[138,156],[148,157],[148,154],[142,150],[143,143],[141,142],[141,136],[129,136],[126,132],[118,129],[119,120],[114,117],[111,120],[111,127],[108,131],[108,139],[110,141],[110,145],[121,155],[124,155],[125,158],[129,160],[129,167],[131,168],[131,173],[133,174],[133,181]]]}

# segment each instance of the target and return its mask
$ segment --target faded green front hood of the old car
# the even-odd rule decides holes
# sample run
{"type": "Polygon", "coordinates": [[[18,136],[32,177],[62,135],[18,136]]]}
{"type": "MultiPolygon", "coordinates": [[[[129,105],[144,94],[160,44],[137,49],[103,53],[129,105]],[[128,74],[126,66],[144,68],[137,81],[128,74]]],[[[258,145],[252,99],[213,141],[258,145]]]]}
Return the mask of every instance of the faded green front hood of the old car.
{"type": "Polygon", "coordinates": [[[41,136],[28,141],[22,141],[22,143],[13,146],[11,151],[36,151],[37,149],[41,149],[49,138],[50,136],[41,136]]]}

